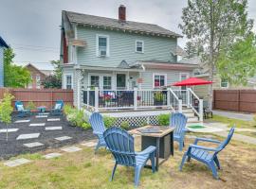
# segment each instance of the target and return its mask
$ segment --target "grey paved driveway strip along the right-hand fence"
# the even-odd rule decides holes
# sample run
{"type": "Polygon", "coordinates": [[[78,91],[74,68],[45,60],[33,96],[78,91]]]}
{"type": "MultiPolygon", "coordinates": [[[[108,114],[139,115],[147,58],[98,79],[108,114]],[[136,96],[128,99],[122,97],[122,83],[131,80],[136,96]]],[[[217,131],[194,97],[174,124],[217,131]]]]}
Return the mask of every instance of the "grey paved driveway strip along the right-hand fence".
{"type": "Polygon", "coordinates": [[[240,119],[243,121],[252,121],[254,114],[244,112],[226,112],[226,111],[212,111],[215,115],[221,115],[233,119],[240,119]]]}

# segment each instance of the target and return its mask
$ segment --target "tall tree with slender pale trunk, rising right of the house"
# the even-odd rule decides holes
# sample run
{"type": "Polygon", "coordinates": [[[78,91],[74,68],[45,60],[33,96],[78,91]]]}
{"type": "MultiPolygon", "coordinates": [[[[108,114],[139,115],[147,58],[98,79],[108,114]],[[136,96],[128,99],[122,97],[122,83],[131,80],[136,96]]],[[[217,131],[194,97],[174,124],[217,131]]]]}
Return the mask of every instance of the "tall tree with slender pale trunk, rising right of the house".
{"type": "MultiPolygon", "coordinates": [[[[250,34],[253,26],[253,21],[247,19],[247,0],[189,0],[181,18],[183,24],[179,26],[183,34],[194,43],[204,42],[201,58],[208,63],[210,80],[220,52],[226,54],[237,39],[245,39],[250,34]]],[[[212,85],[209,89],[210,109],[211,104],[212,85]]]]}

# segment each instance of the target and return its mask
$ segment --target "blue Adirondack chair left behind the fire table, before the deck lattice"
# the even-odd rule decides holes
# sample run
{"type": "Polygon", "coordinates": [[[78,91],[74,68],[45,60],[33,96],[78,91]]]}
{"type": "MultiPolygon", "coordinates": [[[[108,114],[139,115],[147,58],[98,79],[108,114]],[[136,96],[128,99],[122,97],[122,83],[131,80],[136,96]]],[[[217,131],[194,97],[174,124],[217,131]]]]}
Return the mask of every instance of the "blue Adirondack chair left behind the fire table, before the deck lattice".
{"type": "Polygon", "coordinates": [[[106,143],[103,137],[103,132],[106,130],[103,122],[103,117],[99,112],[94,112],[90,116],[89,123],[92,126],[93,133],[98,137],[98,144],[95,147],[95,152],[99,149],[99,147],[106,147],[106,143]]]}

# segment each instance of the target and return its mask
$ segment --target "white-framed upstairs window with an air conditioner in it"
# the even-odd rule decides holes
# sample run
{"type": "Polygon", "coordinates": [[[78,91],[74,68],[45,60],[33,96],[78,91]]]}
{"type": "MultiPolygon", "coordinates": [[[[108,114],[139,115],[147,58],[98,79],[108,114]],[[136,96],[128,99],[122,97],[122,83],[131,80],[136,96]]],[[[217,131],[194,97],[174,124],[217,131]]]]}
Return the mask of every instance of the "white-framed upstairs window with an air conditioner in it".
{"type": "Polygon", "coordinates": [[[97,57],[109,57],[109,37],[97,35],[97,57]]]}

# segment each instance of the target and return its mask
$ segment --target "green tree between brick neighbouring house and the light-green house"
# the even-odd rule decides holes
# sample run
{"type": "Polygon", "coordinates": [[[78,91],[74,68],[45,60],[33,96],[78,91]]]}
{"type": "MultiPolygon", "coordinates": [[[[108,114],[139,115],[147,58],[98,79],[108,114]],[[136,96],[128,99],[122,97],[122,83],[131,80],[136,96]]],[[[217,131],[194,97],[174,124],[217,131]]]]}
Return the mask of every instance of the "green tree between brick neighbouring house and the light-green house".
{"type": "Polygon", "coordinates": [[[60,60],[52,60],[51,61],[52,65],[54,66],[54,75],[46,77],[43,81],[42,84],[44,87],[47,88],[57,88],[61,89],[62,88],[62,75],[63,75],[63,70],[61,67],[61,61],[60,60]]]}

